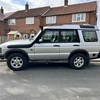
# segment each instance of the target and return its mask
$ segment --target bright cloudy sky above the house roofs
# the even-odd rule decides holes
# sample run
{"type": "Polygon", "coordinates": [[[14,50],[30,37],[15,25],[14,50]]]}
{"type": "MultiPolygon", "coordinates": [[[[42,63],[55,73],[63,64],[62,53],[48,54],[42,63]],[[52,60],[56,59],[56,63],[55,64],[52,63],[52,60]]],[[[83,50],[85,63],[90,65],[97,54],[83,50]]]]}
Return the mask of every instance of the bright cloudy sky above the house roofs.
{"type": "MultiPolygon", "coordinates": [[[[91,2],[96,0],[69,0],[69,4],[91,2]]],[[[64,0],[0,0],[0,6],[3,6],[4,12],[13,12],[25,9],[26,2],[29,3],[29,8],[37,8],[43,6],[62,6],[64,0]]]]}

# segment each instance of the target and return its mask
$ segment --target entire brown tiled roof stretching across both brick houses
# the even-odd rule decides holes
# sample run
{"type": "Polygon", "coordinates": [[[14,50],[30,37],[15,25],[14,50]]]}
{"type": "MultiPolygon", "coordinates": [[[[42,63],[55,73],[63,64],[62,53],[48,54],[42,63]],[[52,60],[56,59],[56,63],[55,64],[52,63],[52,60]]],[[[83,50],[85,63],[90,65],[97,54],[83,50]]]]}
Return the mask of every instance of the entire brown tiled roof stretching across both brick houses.
{"type": "Polygon", "coordinates": [[[96,11],[96,9],[97,9],[96,1],[68,5],[68,6],[61,6],[61,7],[53,7],[53,8],[50,8],[49,6],[47,6],[47,7],[29,9],[28,11],[25,11],[25,10],[17,11],[14,14],[12,14],[11,16],[8,16],[6,19],[35,17],[35,16],[64,15],[64,14],[96,11]],[[45,14],[43,14],[43,13],[45,13],[45,14]]]}

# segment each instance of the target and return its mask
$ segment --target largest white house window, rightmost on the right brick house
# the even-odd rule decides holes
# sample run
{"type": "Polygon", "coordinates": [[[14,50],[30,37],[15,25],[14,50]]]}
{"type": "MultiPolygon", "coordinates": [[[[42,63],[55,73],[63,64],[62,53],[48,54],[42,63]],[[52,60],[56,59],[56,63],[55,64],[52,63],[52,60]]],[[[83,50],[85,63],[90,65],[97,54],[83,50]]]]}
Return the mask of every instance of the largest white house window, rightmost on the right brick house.
{"type": "Polygon", "coordinates": [[[86,13],[73,14],[72,22],[81,22],[86,20],[86,13]]]}

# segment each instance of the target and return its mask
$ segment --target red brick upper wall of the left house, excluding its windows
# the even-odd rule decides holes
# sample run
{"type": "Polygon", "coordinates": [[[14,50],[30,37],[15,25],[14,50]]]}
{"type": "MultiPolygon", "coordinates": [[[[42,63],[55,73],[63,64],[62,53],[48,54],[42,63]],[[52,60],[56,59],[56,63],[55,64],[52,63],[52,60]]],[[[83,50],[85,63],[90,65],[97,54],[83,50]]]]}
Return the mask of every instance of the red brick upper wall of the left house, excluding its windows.
{"type": "Polygon", "coordinates": [[[16,25],[9,25],[11,31],[30,33],[31,30],[39,31],[40,17],[34,17],[34,24],[26,24],[25,18],[16,19],[16,25]]]}

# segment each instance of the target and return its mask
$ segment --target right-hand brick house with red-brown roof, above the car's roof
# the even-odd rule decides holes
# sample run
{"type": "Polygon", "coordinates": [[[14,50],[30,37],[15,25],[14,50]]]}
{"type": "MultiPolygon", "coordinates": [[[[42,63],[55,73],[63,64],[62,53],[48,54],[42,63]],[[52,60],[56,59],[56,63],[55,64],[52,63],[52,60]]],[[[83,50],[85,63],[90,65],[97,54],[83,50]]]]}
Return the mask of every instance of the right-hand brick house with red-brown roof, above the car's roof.
{"type": "Polygon", "coordinates": [[[51,8],[43,17],[43,25],[51,24],[96,24],[97,2],[68,5],[51,8]]]}

